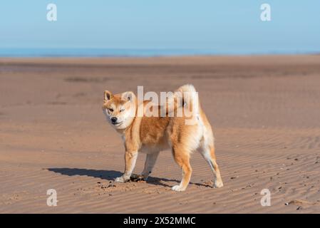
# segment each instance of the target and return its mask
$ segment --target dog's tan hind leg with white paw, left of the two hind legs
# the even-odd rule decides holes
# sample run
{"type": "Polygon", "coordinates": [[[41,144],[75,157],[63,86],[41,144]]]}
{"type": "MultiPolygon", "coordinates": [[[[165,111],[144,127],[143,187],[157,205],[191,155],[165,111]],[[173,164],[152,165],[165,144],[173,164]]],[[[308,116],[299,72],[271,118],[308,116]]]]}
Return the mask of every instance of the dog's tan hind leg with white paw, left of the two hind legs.
{"type": "Polygon", "coordinates": [[[175,162],[182,169],[182,180],[180,185],[175,185],[172,187],[172,190],[175,191],[185,191],[187,185],[189,185],[190,177],[192,174],[192,168],[190,166],[190,153],[187,150],[183,150],[182,145],[176,145],[172,148],[172,154],[175,158],[175,162]]]}

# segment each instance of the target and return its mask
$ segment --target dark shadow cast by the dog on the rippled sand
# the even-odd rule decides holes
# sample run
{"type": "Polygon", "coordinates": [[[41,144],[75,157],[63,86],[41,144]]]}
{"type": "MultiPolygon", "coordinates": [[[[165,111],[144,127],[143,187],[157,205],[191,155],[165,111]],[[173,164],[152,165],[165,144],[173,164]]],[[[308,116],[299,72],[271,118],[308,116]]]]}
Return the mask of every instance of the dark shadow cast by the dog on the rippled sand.
{"type": "MultiPolygon", "coordinates": [[[[88,170],[88,169],[78,169],[78,168],[68,168],[68,167],[47,168],[46,170],[60,173],[61,175],[67,175],[67,176],[80,175],[80,176],[96,177],[96,178],[100,178],[101,180],[109,180],[109,181],[113,181],[115,180],[115,177],[120,177],[121,175],[123,175],[122,172],[115,171],[115,170],[88,170]]],[[[167,185],[164,182],[179,182],[179,181],[169,180],[166,178],[148,177],[148,180],[146,182],[151,185],[161,185],[164,187],[172,187],[171,185],[167,185]]],[[[197,184],[197,183],[191,183],[191,182],[190,184],[210,187],[210,185],[203,185],[203,184],[197,184]]]]}

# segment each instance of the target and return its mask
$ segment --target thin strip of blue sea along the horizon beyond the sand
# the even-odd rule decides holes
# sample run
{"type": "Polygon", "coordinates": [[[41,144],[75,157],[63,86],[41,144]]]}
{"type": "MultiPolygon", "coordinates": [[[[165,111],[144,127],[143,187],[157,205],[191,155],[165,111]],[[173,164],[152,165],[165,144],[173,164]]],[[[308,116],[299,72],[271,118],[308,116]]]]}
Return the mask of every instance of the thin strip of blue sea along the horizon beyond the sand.
{"type": "Polygon", "coordinates": [[[0,48],[0,57],[153,57],[266,54],[316,54],[320,51],[216,51],[212,49],[126,49],[126,48],[0,48]]]}

